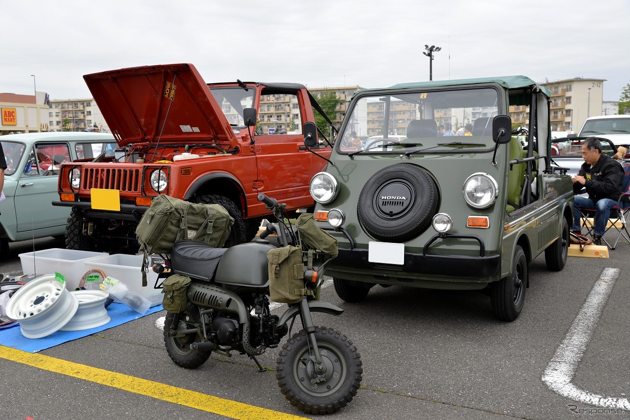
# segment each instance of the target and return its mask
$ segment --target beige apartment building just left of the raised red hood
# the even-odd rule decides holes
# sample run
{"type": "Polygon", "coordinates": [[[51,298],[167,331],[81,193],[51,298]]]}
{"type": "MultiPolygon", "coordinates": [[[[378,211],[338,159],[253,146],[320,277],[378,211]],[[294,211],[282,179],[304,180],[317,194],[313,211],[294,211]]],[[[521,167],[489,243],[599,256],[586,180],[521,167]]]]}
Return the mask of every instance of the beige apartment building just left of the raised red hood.
{"type": "Polygon", "coordinates": [[[85,131],[89,125],[93,125],[103,133],[110,133],[110,128],[94,99],[50,101],[48,113],[50,131],[85,131]]]}

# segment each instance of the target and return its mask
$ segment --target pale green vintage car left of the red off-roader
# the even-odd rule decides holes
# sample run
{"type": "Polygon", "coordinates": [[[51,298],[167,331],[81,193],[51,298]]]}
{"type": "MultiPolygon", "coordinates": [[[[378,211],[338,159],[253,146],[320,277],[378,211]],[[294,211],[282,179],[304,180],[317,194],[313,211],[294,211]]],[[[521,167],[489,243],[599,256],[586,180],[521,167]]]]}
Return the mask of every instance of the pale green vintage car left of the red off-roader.
{"type": "Polygon", "coordinates": [[[0,137],[7,169],[0,201],[0,259],[9,254],[9,242],[33,237],[64,236],[70,209],[54,207],[58,200],[59,164],[113,156],[112,134],[54,132],[10,134],[0,137]]]}

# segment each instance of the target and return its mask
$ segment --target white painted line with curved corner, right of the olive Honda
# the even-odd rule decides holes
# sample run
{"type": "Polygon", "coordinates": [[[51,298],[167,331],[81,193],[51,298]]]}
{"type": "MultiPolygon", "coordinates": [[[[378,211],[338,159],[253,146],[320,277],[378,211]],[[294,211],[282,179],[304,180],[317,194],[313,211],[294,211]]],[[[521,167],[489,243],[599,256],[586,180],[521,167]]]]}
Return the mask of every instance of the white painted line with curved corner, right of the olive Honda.
{"type": "Polygon", "coordinates": [[[549,365],[542,374],[542,382],[546,383],[549,389],[554,392],[574,401],[591,406],[630,411],[630,401],[627,398],[604,397],[587,390],[581,390],[571,383],[619,273],[621,270],[617,268],[605,268],[602,271],[602,275],[599,280],[595,281],[587,301],[573,321],[569,332],[556,349],[553,359],[549,361],[549,365]]]}

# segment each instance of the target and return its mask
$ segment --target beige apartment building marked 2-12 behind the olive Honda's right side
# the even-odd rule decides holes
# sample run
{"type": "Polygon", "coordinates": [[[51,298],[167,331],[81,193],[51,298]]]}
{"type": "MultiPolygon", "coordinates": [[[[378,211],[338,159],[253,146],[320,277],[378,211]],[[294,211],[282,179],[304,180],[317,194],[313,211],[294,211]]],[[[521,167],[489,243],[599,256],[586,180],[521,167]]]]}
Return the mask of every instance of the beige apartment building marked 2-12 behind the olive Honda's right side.
{"type": "MultiPolygon", "coordinates": [[[[604,112],[605,79],[575,77],[558,81],[541,82],[551,91],[551,130],[578,132],[589,116],[604,112]]],[[[510,106],[512,123],[527,127],[529,107],[510,106]]]]}

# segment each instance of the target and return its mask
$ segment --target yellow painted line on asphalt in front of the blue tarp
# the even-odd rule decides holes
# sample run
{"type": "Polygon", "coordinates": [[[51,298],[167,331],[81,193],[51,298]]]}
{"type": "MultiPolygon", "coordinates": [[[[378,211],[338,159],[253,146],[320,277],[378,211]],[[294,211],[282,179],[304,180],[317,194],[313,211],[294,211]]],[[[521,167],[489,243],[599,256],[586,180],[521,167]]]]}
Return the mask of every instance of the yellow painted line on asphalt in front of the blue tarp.
{"type": "Polygon", "coordinates": [[[307,418],[250,406],[249,404],[222,399],[212,395],[202,394],[201,392],[171,387],[171,385],[165,385],[164,383],[136,378],[123,373],[110,372],[72,361],[61,360],[37,353],[28,353],[6,346],[0,346],[0,358],[43,370],[49,370],[50,372],[61,373],[69,377],[84,379],[89,382],[100,383],[108,387],[123,389],[133,392],[134,394],[146,395],[147,397],[173,402],[181,406],[212,412],[220,416],[231,417],[232,419],[297,420],[307,418]]]}

